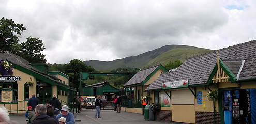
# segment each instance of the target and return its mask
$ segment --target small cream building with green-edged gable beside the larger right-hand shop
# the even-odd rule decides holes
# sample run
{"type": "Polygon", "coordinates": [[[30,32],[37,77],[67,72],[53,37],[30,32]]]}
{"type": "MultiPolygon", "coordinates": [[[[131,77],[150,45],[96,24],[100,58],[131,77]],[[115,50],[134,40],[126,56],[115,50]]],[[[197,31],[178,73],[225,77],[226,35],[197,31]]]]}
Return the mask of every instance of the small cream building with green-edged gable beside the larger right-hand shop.
{"type": "MultiPolygon", "coordinates": [[[[145,89],[155,81],[160,74],[168,72],[161,64],[150,67],[136,73],[123,87],[131,90],[126,91],[123,107],[127,107],[127,112],[135,112],[142,114],[142,98],[149,96],[150,92],[145,92],[145,89]],[[134,90],[134,91],[132,91],[134,90]]],[[[153,92],[158,94],[158,92],[153,92]]],[[[154,101],[152,101],[154,103],[154,101]]],[[[124,109],[124,108],[122,108],[124,109]]]]}

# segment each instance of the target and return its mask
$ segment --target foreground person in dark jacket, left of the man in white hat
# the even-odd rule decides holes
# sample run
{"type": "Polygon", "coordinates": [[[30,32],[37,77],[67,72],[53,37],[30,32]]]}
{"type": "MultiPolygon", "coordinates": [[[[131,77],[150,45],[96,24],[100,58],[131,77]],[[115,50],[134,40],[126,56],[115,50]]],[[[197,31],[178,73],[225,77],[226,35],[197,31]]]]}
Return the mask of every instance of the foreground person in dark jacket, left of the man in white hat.
{"type": "Polygon", "coordinates": [[[50,118],[46,113],[46,105],[43,104],[38,104],[35,108],[35,112],[36,112],[36,118],[34,119],[34,121],[32,121],[31,123],[34,124],[51,124],[51,123],[56,123],[58,124],[59,122],[53,118],[50,118]]]}

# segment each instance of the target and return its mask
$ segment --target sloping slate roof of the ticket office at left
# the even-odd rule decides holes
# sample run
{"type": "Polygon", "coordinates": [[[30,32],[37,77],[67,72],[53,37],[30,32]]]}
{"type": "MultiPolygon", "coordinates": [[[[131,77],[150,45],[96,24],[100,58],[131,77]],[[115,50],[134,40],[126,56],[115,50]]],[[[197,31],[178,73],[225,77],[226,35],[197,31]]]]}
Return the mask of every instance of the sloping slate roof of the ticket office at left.
{"type": "MultiPolygon", "coordinates": [[[[40,74],[41,76],[47,77],[48,79],[54,81],[55,83],[62,84],[55,80],[55,77],[51,77],[51,75],[47,75],[40,70],[36,69],[35,67],[31,66],[31,63],[29,63],[27,60],[23,59],[22,57],[15,55],[9,51],[5,51],[4,53],[0,53],[0,60],[8,60],[13,64],[16,64],[22,68],[25,68],[27,70],[30,70],[34,73],[40,74]],[[50,77],[49,77],[50,76],[50,77]]],[[[15,71],[15,70],[14,70],[15,71]]],[[[65,85],[65,84],[62,84],[65,85]]],[[[67,85],[65,85],[67,86],[67,85]]]]}

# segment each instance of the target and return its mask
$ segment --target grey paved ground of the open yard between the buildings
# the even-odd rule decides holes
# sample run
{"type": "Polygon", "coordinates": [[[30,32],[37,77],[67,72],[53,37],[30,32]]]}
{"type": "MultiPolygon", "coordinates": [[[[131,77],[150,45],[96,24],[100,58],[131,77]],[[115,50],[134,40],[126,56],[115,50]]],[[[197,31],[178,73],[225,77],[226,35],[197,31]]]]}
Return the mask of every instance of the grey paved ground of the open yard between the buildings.
{"type": "MultiPolygon", "coordinates": [[[[139,123],[150,123],[150,124],[167,124],[170,122],[163,121],[146,121],[144,116],[137,113],[121,112],[116,113],[113,110],[101,110],[100,116],[102,118],[94,118],[95,110],[81,111],[81,113],[75,113],[76,120],[81,120],[81,122],[76,123],[87,123],[87,124],[139,124],[139,123]]],[[[26,118],[23,115],[10,114],[10,118],[20,124],[25,124],[26,118]]]]}

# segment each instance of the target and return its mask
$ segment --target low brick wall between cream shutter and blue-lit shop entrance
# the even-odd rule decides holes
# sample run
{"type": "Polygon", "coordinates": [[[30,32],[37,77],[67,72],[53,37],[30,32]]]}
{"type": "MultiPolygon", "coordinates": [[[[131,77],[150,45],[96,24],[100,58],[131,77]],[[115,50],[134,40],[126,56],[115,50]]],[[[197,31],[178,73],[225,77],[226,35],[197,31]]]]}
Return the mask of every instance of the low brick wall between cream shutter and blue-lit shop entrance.
{"type": "MultiPolygon", "coordinates": [[[[195,112],[195,123],[214,123],[214,112],[195,112]]],[[[215,123],[220,123],[218,112],[215,112],[215,123]]]]}

